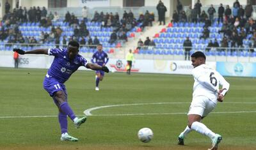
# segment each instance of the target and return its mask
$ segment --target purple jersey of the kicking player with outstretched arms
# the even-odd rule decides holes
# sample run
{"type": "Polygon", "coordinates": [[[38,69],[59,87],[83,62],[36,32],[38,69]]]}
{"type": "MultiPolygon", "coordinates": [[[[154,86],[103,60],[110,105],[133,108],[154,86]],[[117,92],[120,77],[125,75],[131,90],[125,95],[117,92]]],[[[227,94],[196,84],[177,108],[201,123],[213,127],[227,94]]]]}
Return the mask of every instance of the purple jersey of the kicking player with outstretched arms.
{"type": "Polygon", "coordinates": [[[79,66],[86,66],[87,61],[83,56],[77,54],[71,62],[68,59],[67,49],[48,49],[48,55],[54,56],[54,60],[47,72],[47,76],[64,83],[79,66]]]}

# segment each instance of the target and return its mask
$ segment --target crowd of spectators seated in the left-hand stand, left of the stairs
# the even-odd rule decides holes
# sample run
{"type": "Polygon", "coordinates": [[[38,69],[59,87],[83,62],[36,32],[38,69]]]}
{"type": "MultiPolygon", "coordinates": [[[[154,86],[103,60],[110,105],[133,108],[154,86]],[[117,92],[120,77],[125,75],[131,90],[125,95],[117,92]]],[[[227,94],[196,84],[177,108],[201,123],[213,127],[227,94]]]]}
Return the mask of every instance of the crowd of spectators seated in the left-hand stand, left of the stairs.
{"type": "MultiPolygon", "coordinates": [[[[52,43],[54,42],[56,45],[61,43],[63,45],[67,44],[67,41],[77,40],[81,43],[81,45],[97,45],[100,43],[97,36],[95,36],[92,40],[90,36],[90,31],[88,31],[86,27],[86,22],[88,21],[88,10],[86,7],[82,10],[83,19],[79,20],[74,13],[67,11],[65,14],[65,19],[63,20],[68,24],[69,27],[74,28],[74,34],[72,36],[61,36],[63,33],[63,29],[60,26],[54,26],[52,22],[56,22],[60,20],[60,16],[57,12],[48,13],[45,7],[40,8],[31,7],[27,11],[26,7],[22,9],[14,8],[13,11],[10,11],[8,7],[8,1],[6,1],[6,11],[3,17],[3,24],[0,31],[0,40],[8,39],[8,43],[52,43]],[[51,32],[47,33],[42,31],[40,34],[40,38],[36,40],[33,36],[23,37],[21,31],[19,31],[19,24],[31,22],[34,26],[40,27],[51,27],[51,32]],[[67,39],[68,38],[68,39],[67,39]],[[86,43],[87,41],[87,43],[86,43]]],[[[19,6],[19,5],[18,5],[19,6]]],[[[127,13],[124,11],[123,17],[120,19],[118,13],[103,13],[102,11],[98,13],[95,11],[91,22],[99,22],[101,24],[100,29],[102,27],[112,27],[113,33],[110,35],[109,43],[113,44],[117,41],[127,41],[127,32],[130,31],[135,26],[144,29],[145,26],[152,26],[152,22],[154,21],[154,13],[149,13],[148,11],[145,14],[141,13],[140,17],[136,19],[132,11],[127,13]]]]}

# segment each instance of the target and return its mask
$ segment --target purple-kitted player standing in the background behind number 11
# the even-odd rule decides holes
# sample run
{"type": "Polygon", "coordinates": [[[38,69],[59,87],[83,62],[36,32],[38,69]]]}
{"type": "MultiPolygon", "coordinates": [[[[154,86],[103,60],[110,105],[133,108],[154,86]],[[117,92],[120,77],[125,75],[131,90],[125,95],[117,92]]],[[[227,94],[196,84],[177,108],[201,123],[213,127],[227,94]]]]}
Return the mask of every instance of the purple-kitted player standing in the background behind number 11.
{"type": "MultiPolygon", "coordinates": [[[[92,63],[97,63],[100,66],[106,66],[108,63],[108,54],[102,50],[102,44],[97,45],[97,51],[93,54],[92,56],[92,63]],[[94,61],[95,59],[95,61],[94,61]]],[[[97,70],[96,71],[96,87],[95,90],[99,91],[99,82],[103,80],[104,77],[104,71],[102,70],[97,70]]]]}

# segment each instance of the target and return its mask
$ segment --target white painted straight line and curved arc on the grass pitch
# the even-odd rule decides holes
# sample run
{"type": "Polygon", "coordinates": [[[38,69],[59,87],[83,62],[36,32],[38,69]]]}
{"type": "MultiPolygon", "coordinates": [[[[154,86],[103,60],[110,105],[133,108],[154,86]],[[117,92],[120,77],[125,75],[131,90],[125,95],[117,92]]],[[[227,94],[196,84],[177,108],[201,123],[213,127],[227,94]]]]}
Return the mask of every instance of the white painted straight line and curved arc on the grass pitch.
{"type": "MultiPolygon", "coordinates": [[[[171,112],[171,113],[145,113],[145,114],[99,114],[93,115],[91,113],[92,110],[108,108],[108,107],[120,107],[120,106],[132,106],[132,105],[163,105],[163,104],[184,104],[190,102],[162,102],[162,103],[130,103],[130,104],[119,104],[119,105],[105,105],[101,107],[93,107],[91,109],[84,110],[84,114],[86,116],[143,116],[143,115],[179,115],[179,114],[187,114],[187,112],[171,112]]],[[[243,103],[243,104],[256,104],[256,102],[224,102],[225,103],[243,103]]],[[[236,112],[211,112],[211,114],[239,114],[239,113],[255,113],[256,111],[236,111],[236,112]]],[[[84,115],[77,115],[84,116],[84,115]]],[[[58,117],[58,116],[0,116],[0,119],[8,119],[8,118],[33,118],[33,117],[58,117]]]]}

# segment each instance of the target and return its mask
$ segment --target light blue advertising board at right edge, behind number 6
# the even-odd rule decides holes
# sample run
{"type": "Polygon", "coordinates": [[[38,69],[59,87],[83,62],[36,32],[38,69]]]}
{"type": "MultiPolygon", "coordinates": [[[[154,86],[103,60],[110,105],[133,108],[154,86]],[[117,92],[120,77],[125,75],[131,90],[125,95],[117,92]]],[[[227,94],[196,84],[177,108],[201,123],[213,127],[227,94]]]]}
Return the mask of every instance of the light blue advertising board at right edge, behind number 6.
{"type": "Polygon", "coordinates": [[[256,77],[256,63],[217,62],[216,68],[225,76],[256,77]]]}

